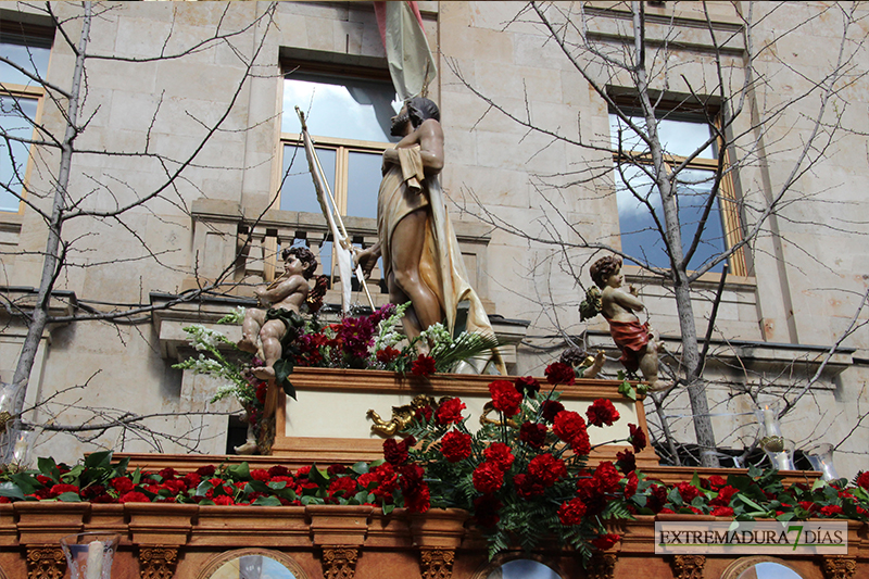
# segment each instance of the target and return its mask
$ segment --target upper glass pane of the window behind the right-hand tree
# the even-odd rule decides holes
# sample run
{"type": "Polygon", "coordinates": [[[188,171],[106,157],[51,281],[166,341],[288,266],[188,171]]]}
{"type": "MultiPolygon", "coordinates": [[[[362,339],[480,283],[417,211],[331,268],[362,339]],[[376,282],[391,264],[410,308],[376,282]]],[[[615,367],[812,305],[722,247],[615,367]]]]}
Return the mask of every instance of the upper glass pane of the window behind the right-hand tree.
{"type": "MultiPolygon", "coordinates": [[[[645,121],[641,116],[631,116],[631,123],[645,130],[645,121]]],[[[609,114],[609,138],[614,149],[618,148],[619,129],[621,129],[622,151],[647,151],[648,147],[637,133],[628,128],[621,118],[609,114]]],[[[706,142],[711,135],[709,125],[702,122],[673,121],[670,118],[658,119],[658,136],[664,151],[676,156],[688,156],[697,147],[706,142]]],[[[713,146],[706,147],[700,155],[703,159],[717,159],[713,146]]]]}

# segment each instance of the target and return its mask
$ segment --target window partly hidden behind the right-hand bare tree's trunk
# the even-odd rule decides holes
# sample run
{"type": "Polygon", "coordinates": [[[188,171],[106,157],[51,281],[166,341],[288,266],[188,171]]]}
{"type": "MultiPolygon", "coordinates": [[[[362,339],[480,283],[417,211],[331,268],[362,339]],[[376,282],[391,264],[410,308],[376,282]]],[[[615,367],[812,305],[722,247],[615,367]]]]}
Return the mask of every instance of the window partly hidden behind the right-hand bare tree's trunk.
{"type": "MultiPolygon", "coordinates": [[[[630,116],[631,123],[644,128],[642,116],[630,116]]],[[[655,267],[669,267],[669,259],[665,251],[664,240],[659,234],[657,222],[664,223],[660,196],[655,188],[651,169],[651,158],[644,152],[647,146],[627,123],[616,114],[609,115],[609,135],[614,150],[630,155],[626,161],[614,156],[616,163],[615,182],[618,201],[619,229],[621,231],[621,249],[628,255],[644,259],[655,267]],[[621,161],[619,166],[619,161],[621,161]],[[647,203],[647,204],[646,204],[647,203]],[[650,211],[651,205],[651,211],[650,211]],[[653,212],[654,211],[654,215],[653,212]]],[[[668,114],[658,119],[658,135],[665,151],[667,166],[673,168],[684,162],[711,136],[709,125],[696,115],[668,114]]],[[[718,147],[710,144],[683,168],[676,181],[676,196],[679,210],[679,223],[682,232],[683,250],[688,250],[697,231],[705,205],[715,182],[718,166],[718,147]]],[[[689,269],[700,267],[707,260],[723,252],[742,239],[739,213],[736,211],[732,181],[725,174],[719,185],[718,196],[706,221],[701,241],[689,263],[689,269]]],[[[722,264],[711,270],[720,272],[722,264]]],[[[746,275],[742,251],[730,260],[730,270],[735,275],[746,275]]]]}

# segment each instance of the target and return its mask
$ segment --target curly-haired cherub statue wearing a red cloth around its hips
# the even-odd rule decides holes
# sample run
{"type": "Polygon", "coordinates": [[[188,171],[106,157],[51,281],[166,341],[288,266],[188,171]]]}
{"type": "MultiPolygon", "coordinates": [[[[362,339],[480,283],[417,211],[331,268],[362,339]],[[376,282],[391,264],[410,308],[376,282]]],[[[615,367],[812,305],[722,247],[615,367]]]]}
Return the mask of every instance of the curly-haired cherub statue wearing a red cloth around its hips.
{"type": "Polygon", "coordinates": [[[641,324],[633,312],[645,306],[637,298],[633,286],[628,291],[621,289],[621,257],[607,255],[594,262],[589,268],[594,284],[601,288],[601,313],[609,323],[609,333],[621,349],[619,361],[628,372],[643,374],[650,390],[664,390],[672,386],[670,381],[658,379],[659,341],[655,339],[648,324],[641,324]]]}

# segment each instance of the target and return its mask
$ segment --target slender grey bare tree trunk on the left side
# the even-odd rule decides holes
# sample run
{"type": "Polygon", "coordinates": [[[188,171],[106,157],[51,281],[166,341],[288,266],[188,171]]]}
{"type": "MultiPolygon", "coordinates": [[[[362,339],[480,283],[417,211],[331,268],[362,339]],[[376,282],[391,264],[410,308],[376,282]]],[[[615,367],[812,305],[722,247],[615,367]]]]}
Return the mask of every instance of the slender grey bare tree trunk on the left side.
{"type": "Polygon", "coordinates": [[[30,323],[27,328],[27,336],[24,339],[18,363],[15,366],[15,374],[12,379],[12,387],[16,393],[13,415],[21,413],[24,406],[24,394],[34,367],[39,341],[48,322],[49,304],[51,303],[51,291],[54,289],[54,281],[60,272],[61,259],[61,229],[63,227],[63,212],[66,209],[66,188],[70,182],[70,167],[73,162],[73,141],[78,135],[78,108],[79,93],[81,91],[81,77],[85,68],[85,51],[90,34],[91,4],[85,2],[85,17],[81,21],[81,37],[78,40],[76,51],[75,71],[73,73],[73,85],[70,89],[70,102],[66,108],[66,130],[61,142],[61,163],[58,173],[58,180],[53,188],[53,200],[51,209],[51,219],[48,224],[48,241],[46,242],[46,253],[42,261],[42,276],[39,280],[36,305],[32,314],[30,323]]]}

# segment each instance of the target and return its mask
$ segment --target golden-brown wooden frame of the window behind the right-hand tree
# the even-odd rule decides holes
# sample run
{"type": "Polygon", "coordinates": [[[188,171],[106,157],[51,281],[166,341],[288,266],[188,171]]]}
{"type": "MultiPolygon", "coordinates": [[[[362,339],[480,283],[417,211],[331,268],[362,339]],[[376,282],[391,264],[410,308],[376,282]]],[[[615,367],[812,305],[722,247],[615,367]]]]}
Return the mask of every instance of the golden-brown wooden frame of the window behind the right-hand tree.
{"type": "MultiPolygon", "coordinates": [[[[642,116],[642,111],[637,104],[635,99],[614,98],[615,105],[619,111],[628,116],[642,116]]],[[[720,129],[721,127],[721,111],[718,108],[702,104],[687,104],[684,101],[667,101],[662,100],[655,106],[655,118],[657,121],[671,119],[671,121],[688,121],[700,122],[708,125],[708,118],[713,118],[715,126],[720,129]]],[[[612,106],[607,111],[607,116],[615,114],[612,106]]],[[[608,124],[608,123],[607,123],[608,124]]],[[[609,135],[612,142],[612,134],[609,135]]],[[[739,211],[739,203],[736,201],[736,187],[732,174],[732,164],[730,163],[730,150],[725,147],[725,141],[720,137],[716,140],[715,147],[717,155],[723,158],[723,169],[721,173],[721,180],[718,185],[718,206],[721,213],[721,227],[723,234],[725,251],[730,250],[743,240],[742,218],[739,211]]],[[[618,166],[619,161],[629,160],[631,164],[635,165],[651,165],[652,158],[647,153],[640,151],[613,151],[613,168],[618,166]]],[[[682,155],[665,154],[664,162],[672,171],[675,166],[679,166],[685,162],[688,158],[682,155]]],[[[687,169],[701,169],[701,171],[718,171],[718,159],[706,159],[695,156],[692,159],[684,168],[687,169]]],[[[619,230],[619,237],[621,231],[619,230]]],[[[728,257],[729,273],[735,276],[747,277],[748,267],[745,260],[745,248],[739,248],[728,257]]]]}

